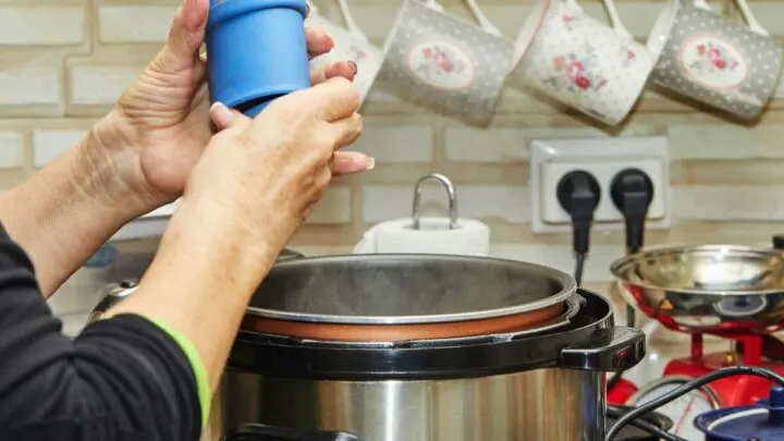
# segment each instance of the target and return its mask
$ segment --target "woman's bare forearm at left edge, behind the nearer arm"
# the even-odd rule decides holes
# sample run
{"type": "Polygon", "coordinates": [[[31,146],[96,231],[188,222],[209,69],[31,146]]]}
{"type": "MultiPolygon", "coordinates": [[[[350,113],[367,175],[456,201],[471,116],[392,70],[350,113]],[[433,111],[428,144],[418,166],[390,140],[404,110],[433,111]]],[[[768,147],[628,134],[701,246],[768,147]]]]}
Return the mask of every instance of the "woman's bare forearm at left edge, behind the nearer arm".
{"type": "Polygon", "coordinates": [[[0,196],[0,222],[32,258],[45,297],[122,225],[155,207],[125,187],[98,123],[78,145],[0,196]]]}

